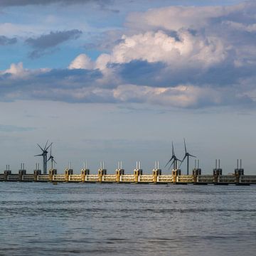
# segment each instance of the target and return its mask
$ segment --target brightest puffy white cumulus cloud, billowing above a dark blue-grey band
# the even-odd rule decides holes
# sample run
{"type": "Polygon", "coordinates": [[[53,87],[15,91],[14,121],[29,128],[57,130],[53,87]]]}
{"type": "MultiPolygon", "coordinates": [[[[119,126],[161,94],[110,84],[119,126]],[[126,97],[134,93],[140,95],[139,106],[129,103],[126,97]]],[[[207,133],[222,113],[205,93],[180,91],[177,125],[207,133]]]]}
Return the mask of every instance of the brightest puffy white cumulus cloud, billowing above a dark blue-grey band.
{"type": "Polygon", "coordinates": [[[112,63],[146,60],[149,63],[163,62],[175,67],[184,62],[186,67],[196,63],[208,66],[223,61],[226,55],[219,38],[193,36],[184,30],[178,31],[178,39],[164,31],[149,31],[123,36],[122,39],[124,41],[112,51],[112,63]]]}

